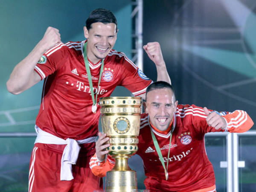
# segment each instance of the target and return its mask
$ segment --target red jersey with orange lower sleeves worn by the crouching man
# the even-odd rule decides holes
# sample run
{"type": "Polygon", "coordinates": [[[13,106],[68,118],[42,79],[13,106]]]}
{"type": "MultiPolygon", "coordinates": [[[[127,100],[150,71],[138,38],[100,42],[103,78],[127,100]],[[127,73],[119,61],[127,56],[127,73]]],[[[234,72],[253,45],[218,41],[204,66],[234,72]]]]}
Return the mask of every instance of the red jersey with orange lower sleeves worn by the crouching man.
{"type": "MultiPolygon", "coordinates": [[[[165,165],[168,160],[171,131],[168,134],[155,131],[150,127],[148,114],[143,113],[137,154],[143,159],[146,189],[150,189],[152,192],[191,192],[199,189],[202,189],[201,192],[215,191],[215,175],[205,151],[204,135],[216,131],[244,132],[253,126],[252,119],[245,111],[221,112],[221,115],[227,121],[226,130],[216,130],[210,127],[206,122],[207,115],[201,107],[177,106],[173,119],[174,130],[169,154],[169,179],[165,180],[164,169],[151,137],[151,129],[156,136],[165,165]]],[[[106,163],[99,163],[92,157],[90,168],[95,175],[104,176],[113,168],[113,162],[109,157],[106,163]],[[106,163],[108,166],[105,165],[106,163]]]]}

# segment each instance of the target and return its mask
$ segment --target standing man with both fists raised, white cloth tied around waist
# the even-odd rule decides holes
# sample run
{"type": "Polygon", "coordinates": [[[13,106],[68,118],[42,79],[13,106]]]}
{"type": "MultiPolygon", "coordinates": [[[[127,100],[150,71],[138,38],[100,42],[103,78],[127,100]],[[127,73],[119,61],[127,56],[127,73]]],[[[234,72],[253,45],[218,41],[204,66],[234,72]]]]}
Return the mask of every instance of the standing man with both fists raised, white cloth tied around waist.
{"type": "MultiPolygon", "coordinates": [[[[7,88],[13,94],[44,79],[29,192],[102,189],[102,179],[89,168],[98,133],[99,98],[111,96],[116,86],[145,97],[146,87],[152,83],[123,52],[113,49],[117,32],[113,13],[96,9],[84,26],[86,40],[64,44],[59,30],[48,27],[12,71],[7,88]]],[[[157,80],[170,82],[159,43],[143,48],[156,65],[157,80]]]]}

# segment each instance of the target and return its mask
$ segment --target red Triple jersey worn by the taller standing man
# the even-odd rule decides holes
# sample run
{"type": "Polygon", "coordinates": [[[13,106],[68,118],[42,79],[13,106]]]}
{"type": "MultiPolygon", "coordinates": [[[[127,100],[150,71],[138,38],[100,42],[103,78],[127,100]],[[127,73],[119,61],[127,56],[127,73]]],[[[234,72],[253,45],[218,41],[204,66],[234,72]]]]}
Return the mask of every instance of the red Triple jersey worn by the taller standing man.
{"type": "MultiPolygon", "coordinates": [[[[84,65],[83,45],[86,41],[57,44],[41,57],[35,71],[44,79],[41,107],[36,125],[63,139],[76,140],[96,136],[99,105],[92,113],[91,91],[84,65]]],[[[124,53],[111,50],[104,61],[98,89],[101,61],[89,61],[93,91],[100,97],[109,97],[116,86],[124,86],[134,96],[145,93],[152,82],[124,53]]]]}

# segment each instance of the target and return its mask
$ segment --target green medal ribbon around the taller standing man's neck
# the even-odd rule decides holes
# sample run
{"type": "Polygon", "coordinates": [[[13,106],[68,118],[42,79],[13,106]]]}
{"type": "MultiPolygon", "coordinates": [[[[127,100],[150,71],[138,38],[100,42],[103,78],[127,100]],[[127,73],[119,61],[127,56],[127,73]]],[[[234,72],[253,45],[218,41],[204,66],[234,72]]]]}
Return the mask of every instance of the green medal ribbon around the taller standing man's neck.
{"type": "MultiPolygon", "coordinates": [[[[86,68],[86,73],[87,73],[87,77],[88,77],[88,81],[89,81],[89,85],[90,85],[90,91],[91,91],[91,95],[92,95],[92,99],[93,99],[93,105],[97,105],[97,96],[98,94],[96,94],[96,98],[94,99],[94,92],[93,92],[93,81],[92,81],[92,77],[90,74],[90,67],[89,67],[89,61],[87,58],[87,53],[86,53],[86,45],[87,42],[84,43],[84,64],[85,64],[85,68],[86,68]]],[[[103,71],[103,67],[104,67],[104,59],[102,59],[102,64],[101,64],[101,68],[100,68],[100,73],[99,73],[99,84],[100,84],[100,80],[102,77],[102,71],[103,71]]],[[[99,84],[98,84],[98,91],[99,91],[99,84]]],[[[96,113],[96,111],[95,111],[96,113]]]]}

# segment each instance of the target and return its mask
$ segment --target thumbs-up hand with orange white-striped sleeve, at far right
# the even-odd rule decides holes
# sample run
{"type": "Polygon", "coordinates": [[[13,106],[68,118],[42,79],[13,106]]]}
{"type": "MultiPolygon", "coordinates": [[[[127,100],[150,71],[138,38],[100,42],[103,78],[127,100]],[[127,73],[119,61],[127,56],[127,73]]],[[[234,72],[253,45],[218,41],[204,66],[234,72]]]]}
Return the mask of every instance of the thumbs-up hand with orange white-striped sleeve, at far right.
{"type": "Polygon", "coordinates": [[[220,113],[210,112],[204,107],[204,113],[207,115],[207,124],[215,129],[224,129],[229,132],[243,133],[253,126],[253,120],[242,110],[236,110],[233,113],[227,113],[221,116],[220,113]]]}

